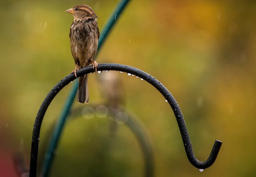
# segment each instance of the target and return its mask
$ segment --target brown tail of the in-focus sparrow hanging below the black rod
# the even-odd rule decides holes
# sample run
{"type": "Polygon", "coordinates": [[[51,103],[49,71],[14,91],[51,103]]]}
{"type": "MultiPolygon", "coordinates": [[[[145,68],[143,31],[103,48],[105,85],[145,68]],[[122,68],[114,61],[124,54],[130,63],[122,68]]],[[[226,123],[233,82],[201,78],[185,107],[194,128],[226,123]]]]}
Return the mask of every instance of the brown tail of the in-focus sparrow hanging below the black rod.
{"type": "Polygon", "coordinates": [[[89,90],[88,90],[88,75],[79,77],[79,85],[77,92],[78,103],[88,103],[89,101],[89,90]]]}

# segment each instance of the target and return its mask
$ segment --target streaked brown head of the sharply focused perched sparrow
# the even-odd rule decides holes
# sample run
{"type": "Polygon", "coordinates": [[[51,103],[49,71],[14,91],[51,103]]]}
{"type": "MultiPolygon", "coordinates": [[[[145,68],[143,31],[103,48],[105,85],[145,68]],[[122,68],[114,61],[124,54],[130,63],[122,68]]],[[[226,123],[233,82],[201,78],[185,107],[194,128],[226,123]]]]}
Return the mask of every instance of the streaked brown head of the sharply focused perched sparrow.
{"type": "Polygon", "coordinates": [[[85,4],[76,5],[71,9],[67,9],[66,12],[71,13],[74,16],[74,20],[98,18],[92,8],[85,4]]]}

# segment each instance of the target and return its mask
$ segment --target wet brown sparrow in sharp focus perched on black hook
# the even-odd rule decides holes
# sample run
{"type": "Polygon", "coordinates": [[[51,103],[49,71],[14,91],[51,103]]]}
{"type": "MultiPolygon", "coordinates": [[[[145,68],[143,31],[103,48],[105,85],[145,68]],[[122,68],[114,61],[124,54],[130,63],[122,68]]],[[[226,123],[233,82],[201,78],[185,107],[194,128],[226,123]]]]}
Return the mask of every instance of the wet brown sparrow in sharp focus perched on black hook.
{"type": "MultiPolygon", "coordinates": [[[[93,70],[97,72],[98,63],[93,59],[98,50],[98,16],[85,4],[75,5],[66,12],[74,16],[70,26],[70,48],[76,67],[71,73],[77,77],[78,70],[90,65],[93,65],[93,70]]],[[[77,101],[78,103],[89,101],[88,74],[79,77],[77,101]]]]}

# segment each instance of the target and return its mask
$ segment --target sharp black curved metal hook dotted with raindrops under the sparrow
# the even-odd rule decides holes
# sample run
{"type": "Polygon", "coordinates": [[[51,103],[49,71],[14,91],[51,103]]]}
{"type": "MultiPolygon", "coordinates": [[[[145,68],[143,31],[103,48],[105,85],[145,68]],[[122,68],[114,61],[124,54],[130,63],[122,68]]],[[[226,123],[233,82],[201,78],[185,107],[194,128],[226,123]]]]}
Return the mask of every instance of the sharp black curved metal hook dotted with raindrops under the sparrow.
{"type": "MultiPolygon", "coordinates": [[[[189,139],[189,133],[186,128],[186,124],[183,118],[183,115],[181,113],[180,107],[173,98],[172,94],[160,83],[155,79],[155,77],[150,76],[144,71],[141,71],[137,68],[133,68],[131,66],[126,66],[122,64],[116,64],[116,63],[103,63],[99,64],[98,71],[103,71],[103,70],[115,70],[115,71],[121,71],[121,72],[127,72],[130,74],[133,74],[135,76],[140,77],[141,79],[144,79],[151,85],[153,85],[168,101],[170,104],[171,108],[173,109],[173,112],[175,114],[180,133],[182,136],[184,148],[186,151],[186,155],[189,159],[189,162],[195,166],[196,168],[199,169],[205,169],[208,168],[213,164],[213,162],[216,160],[216,157],[220,151],[220,147],[222,142],[216,140],[213,149],[211,150],[209,158],[205,162],[201,162],[195,158],[195,155],[193,153],[192,145],[189,139]]],[[[77,76],[80,77],[84,74],[89,74],[94,72],[92,70],[92,66],[88,66],[86,68],[83,68],[79,70],[79,72],[76,72],[77,76]]],[[[33,129],[33,134],[32,134],[32,143],[31,143],[31,158],[30,158],[30,177],[35,177],[36,176],[36,167],[37,167],[37,155],[38,155],[38,145],[39,145],[39,135],[40,135],[40,129],[41,125],[43,122],[43,118],[45,116],[45,112],[47,111],[47,108],[49,107],[50,103],[52,102],[53,98],[58,94],[58,92],[63,89],[66,85],[68,85],[71,81],[76,79],[74,74],[69,74],[66,76],[64,79],[62,79],[57,85],[53,87],[53,89],[47,94],[45,100],[43,101],[42,105],[40,106],[40,109],[37,113],[36,120],[34,123],[34,129],[33,129]]]]}

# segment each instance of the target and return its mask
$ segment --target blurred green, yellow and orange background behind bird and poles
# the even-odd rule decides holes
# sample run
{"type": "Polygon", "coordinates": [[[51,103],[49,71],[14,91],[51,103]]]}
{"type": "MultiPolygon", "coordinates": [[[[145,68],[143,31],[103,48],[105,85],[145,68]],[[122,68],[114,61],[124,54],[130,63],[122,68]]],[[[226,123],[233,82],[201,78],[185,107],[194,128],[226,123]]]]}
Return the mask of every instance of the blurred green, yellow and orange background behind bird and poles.
{"type": "MultiPolygon", "coordinates": [[[[74,69],[65,10],[88,4],[102,30],[118,0],[0,1],[0,176],[17,176],[13,153],[29,165],[36,113],[52,87],[74,69]]],[[[216,162],[199,172],[187,160],[174,114],[146,81],[119,73],[125,108],[150,137],[155,176],[252,177],[256,173],[256,1],[131,1],[97,62],[122,63],[155,76],[179,103],[198,160],[214,140],[223,142],[216,162]]],[[[105,74],[102,72],[101,74],[105,74]]],[[[89,104],[103,103],[99,74],[89,76],[89,104]]],[[[50,105],[39,155],[72,83],[50,105]]],[[[74,103],[74,107],[81,106],[74,103]]],[[[86,105],[84,105],[86,106],[86,105]]],[[[51,176],[142,176],[140,146],[125,126],[109,136],[107,118],[70,121],[51,176]]],[[[38,163],[41,163],[41,159],[38,163]]]]}

